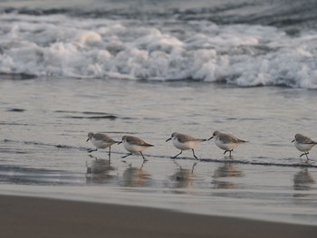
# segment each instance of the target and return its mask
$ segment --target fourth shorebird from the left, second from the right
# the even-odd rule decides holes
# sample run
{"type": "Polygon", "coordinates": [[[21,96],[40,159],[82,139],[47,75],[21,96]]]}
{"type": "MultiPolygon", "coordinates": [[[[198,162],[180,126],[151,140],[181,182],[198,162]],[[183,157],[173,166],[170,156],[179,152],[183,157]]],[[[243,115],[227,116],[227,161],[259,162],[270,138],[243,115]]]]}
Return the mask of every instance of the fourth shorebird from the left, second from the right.
{"type": "Polygon", "coordinates": [[[243,144],[247,141],[242,140],[240,138],[235,138],[235,136],[230,134],[221,133],[220,131],[216,130],[213,133],[213,136],[209,139],[216,138],[215,144],[218,148],[222,148],[225,150],[224,155],[226,152],[229,152],[231,157],[231,152],[234,150],[234,148],[238,147],[240,144],[243,144]]]}

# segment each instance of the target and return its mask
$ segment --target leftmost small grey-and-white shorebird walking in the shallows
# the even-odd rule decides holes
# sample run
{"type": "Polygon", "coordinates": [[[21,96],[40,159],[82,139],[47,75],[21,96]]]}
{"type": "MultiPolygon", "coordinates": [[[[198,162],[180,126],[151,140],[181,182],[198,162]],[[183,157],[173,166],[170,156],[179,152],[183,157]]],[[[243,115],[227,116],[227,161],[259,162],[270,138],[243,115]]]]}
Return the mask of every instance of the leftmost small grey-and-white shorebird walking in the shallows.
{"type": "Polygon", "coordinates": [[[91,153],[92,151],[97,151],[98,148],[109,148],[109,157],[111,154],[111,146],[113,144],[118,143],[118,141],[115,141],[114,139],[110,138],[107,134],[102,132],[89,132],[86,142],[88,142],[88,140],[91,140],[91,143],[96,147],[96,149],[88,150],[89,153],[91,153]]]}

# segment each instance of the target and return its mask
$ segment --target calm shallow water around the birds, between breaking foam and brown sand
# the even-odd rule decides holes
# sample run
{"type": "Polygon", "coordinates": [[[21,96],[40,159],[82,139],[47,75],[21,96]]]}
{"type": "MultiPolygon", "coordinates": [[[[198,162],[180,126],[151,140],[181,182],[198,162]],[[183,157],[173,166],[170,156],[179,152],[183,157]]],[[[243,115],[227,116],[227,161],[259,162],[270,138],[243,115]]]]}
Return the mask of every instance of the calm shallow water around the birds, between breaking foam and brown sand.
{"type": "MultiPolygon", "coordinates": [[[[291,143],[314,137],[314,90],[235,88],[193,81],[33,79],[0,81],[2,194],[39,195],[179,211],[317,224],[317,152],[291,143]],[[216,129],[249,142],[223,155],[214,141],[201,160],[165,142],[173,131],[209,138],[216,129]],[[86,142],[106,131],[154,144],[122,159],[86,142]]],[[[169,141],[170,142],[170,141],[169,141]]]]}

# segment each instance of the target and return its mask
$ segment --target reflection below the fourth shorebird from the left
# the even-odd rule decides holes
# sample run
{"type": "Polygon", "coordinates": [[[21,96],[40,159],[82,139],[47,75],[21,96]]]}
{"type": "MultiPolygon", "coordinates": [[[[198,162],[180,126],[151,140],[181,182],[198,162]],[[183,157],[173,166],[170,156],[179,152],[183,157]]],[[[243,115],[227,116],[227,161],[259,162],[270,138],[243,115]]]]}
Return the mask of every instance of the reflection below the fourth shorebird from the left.
{"type": "Polygon", "coordinates": [[[236,188],[236,184],[233,182],[228,181],[220,181],[217,178],[222,177],[242,177],[245,176],[244,173],[234,167],[232,163],[225,163],[221,167],[217,167],[214,172],[214,180],[212,181],[212,184],[214,184],[214,188],[236,188]]]}

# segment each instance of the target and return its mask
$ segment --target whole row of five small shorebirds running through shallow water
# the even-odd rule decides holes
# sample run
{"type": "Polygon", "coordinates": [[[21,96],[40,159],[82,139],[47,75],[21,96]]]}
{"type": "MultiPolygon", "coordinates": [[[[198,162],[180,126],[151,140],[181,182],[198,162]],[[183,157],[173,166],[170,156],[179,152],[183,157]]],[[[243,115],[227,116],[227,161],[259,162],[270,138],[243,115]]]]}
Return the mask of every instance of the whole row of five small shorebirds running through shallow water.
{"type": "MultiPolygon", "coordinates": [[[[172,140],[173,145],[175,148],[180,149],[180,152],[171,158],[176,158],[179,155],[182,154],[183,150],[192,150],[193,157],[198,159],[198,157],[195,155],[195,148],[197,148],[202,142],[210,140],[214,138],[215,144],[218,148],[222,148],[225,150],[224,155],[226,152],[229,152],[229,157],[232,157],[231,153],[234,150],[234,148],[237,148],[239,145],[244,144],[248,141],[236,138],[235,136],[231,134],[225,134],[218,130],[216,130],[213,133],[213,136],[211,138],[194,138],[189,135],[181,134],[178,132],[172,133],[170,138],[166,140],[168,142],[169,140],[172,140]]],[[[128,153],[124,157],[129,157],[133,154],[140,154],[144,161],[147,159],[142,154],[142,151],[146,148],[154,147],[153,145],[145,142],[141,138],[132,137],[132,136],[123,136],[121,141],[116,141],[112,138],[110,138],[106,133],[104,132],[98,132],[98,133],[88,133],[88,138],[86,141],[91,140],[91,143],[95,146],[95,149],[89,149],[88,152],[97,151],[98,148],[109,148],[109,157],[111,153],[111,146],[114,144],[121,144],[123,143],[123,146],[126,150],[128,150],[130,153],[128,153]]],[[[303,134],[296,134],[293,138],[294,146],[298,150],[302,151],[303,154],[300,157],[306,156],[307,161],[309,160],[308,154],[309,151],[317,145],[316,141],[313,141],[312,138],[306,137],[303,134]]]]}

